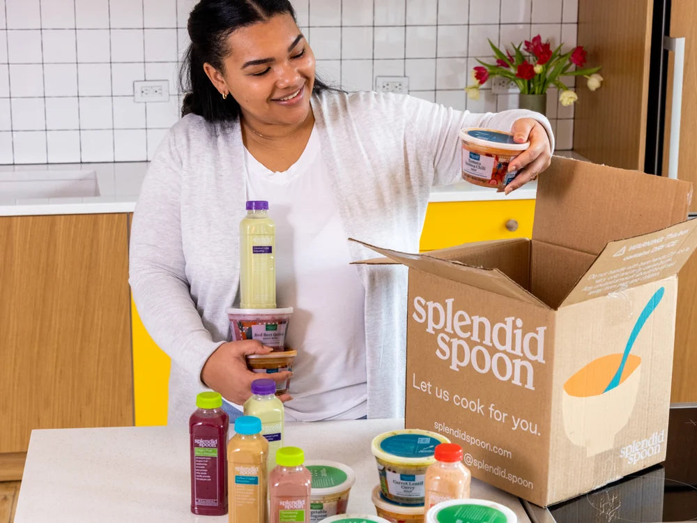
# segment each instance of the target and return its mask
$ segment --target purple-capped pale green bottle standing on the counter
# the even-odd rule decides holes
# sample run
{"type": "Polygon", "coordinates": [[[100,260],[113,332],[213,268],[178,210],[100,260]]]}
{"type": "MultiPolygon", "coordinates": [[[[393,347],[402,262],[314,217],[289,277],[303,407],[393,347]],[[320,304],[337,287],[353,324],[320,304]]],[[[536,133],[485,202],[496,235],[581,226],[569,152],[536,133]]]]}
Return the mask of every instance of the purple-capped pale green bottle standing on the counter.
{"type": "Polygon", "coordinates": [[[252,381],[252,397],[245,402],[245,416],[261,420],[261,434],[268,441],[268,470],[276,464],[276,452],[283,446],[283,402],[276,397],[273,379],[252,381]]]}

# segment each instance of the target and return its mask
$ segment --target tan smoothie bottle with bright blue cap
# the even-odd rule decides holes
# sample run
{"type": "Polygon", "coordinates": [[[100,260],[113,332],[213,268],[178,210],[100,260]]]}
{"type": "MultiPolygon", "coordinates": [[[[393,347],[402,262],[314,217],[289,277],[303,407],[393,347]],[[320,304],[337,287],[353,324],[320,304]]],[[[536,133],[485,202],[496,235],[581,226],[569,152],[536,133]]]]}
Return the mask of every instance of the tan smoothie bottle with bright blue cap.
{"type": "Polygon", "coordinates": [[[230,523],[266,523],[266,456],[268,441],[261,435],[261,420],[240,416],[227,446],[230,523]]]}

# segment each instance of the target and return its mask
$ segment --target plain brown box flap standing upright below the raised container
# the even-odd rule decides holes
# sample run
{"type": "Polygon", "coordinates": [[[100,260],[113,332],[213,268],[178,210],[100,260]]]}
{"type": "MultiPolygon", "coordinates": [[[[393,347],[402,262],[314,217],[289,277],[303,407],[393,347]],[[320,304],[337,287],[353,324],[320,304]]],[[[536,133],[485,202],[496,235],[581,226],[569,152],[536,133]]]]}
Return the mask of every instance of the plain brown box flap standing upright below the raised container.
{"type": "Polygon", "coordinates": [[[691,195],[687,181],[554,156],[537,181],[533,239],[598,255],[684,221],[691,195]]]}

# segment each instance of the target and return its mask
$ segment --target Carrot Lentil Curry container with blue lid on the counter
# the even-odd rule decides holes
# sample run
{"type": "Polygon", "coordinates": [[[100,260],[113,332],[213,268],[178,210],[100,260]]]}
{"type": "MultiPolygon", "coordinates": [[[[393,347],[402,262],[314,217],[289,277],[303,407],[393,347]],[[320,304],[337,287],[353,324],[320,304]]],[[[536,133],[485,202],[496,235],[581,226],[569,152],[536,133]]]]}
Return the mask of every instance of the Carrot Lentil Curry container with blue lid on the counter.
{"type": "Polygon", "coordinates": [[[393,503],[424,504],[424,476],[435,462],[436,445],[450,443],[429,430],[404,429],[374,437],[371,450],[378,464],[383,496],[393,503]]]}

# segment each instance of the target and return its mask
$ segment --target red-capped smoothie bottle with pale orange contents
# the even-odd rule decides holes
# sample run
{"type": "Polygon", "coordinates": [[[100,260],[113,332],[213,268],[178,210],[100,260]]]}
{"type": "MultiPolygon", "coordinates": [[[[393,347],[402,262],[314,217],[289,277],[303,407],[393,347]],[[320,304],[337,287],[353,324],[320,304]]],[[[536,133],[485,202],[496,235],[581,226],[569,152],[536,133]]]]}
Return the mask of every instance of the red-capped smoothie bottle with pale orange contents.
{"type": "Polygon", "coordinates": [[[426,469],[424,478],[426,510],[451,499],[470,497],[472,475],[462,463],[462,447],[454,443],[436,445],[436,462],[426,469]]]}

